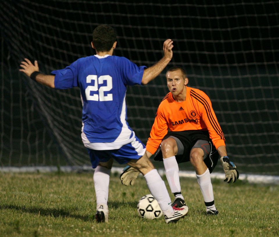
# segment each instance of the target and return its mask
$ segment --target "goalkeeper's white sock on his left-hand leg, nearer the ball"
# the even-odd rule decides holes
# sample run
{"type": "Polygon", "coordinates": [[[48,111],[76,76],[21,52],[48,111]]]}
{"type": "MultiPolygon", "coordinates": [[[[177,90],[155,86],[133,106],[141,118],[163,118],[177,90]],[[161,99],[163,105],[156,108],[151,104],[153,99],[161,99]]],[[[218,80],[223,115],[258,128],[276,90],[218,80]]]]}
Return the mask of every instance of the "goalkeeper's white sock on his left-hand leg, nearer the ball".
{"type": "Polygon", "coordinates": [[[181,187],[178,176],[179,168],[175,156],[163,159],[163,162],[166,170],[166,176],[169,183],[169,187],[171,188],[171,192],[180,193],[181,187]]]}

